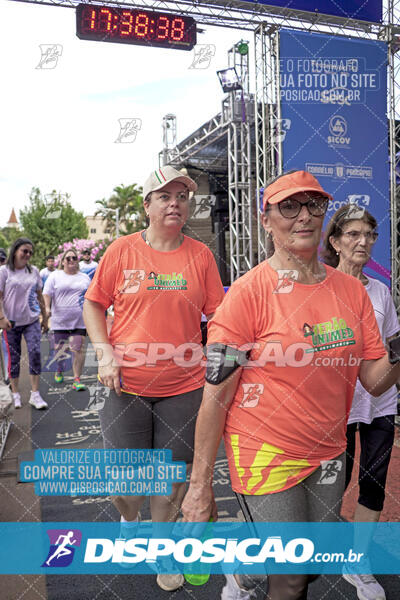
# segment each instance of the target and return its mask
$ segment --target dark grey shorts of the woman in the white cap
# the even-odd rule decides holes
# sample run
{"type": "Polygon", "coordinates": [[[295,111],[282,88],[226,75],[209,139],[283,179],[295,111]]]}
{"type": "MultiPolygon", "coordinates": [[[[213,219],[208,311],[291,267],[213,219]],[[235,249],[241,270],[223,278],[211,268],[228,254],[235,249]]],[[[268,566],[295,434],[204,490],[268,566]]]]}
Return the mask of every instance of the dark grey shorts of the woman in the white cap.
{"type": "Polygon", "coordinates": [[[194,430],[203,388],[150,398],[112,390],[99,410],[105,448],[172,450],[173,460],[193,462],[194,430]]]}

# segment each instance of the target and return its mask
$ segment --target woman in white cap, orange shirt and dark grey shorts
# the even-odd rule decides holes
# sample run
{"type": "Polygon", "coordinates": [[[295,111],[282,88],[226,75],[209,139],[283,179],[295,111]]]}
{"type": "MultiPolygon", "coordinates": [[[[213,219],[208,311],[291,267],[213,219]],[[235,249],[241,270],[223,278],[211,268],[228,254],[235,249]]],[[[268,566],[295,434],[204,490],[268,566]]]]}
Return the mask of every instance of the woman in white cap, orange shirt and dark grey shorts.
{"type": "MultiPolygon", "coordinates": [[[[201,315],[210,317],[224,296],[211,251],[182,233],[196,190],[171,166],[152,172],[143,188],[148,228],[111,244],[84,304],[99,378],[112,390],[100,411],[105,447],[170,449],[188,466],[204,385],[201,315]],[[112,304],[108,335],[104,310],[112,304]]],[[[174,483],[172,495],[150,498],[153,521],[176,520],[185,488],[174,483]]],[[[143,500],[115,498],[126,538],[143,500]]],[[[160,573],[157,583],[172,591],[183,576],[160,573]]]]}

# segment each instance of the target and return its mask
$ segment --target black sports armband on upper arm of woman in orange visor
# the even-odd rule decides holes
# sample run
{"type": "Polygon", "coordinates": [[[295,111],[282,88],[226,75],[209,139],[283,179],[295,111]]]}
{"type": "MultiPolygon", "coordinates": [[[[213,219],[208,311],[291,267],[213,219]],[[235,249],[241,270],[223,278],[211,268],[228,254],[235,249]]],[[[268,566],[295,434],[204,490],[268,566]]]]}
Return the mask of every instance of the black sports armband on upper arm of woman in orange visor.
{"type": "Polygon", "coordinates": [[[250,350],[237,350],[225,344],[207,346],[206,381],[218,385],[238,367],[243,366],[249,355],[250,350]]]}

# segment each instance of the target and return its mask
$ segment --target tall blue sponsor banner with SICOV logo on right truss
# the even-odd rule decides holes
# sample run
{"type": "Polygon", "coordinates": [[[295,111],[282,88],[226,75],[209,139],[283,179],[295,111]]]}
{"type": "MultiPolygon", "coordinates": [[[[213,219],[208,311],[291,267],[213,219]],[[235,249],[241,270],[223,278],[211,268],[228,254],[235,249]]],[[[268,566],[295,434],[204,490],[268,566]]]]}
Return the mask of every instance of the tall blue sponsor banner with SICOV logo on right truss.
{"type": "Polygon", "coordinates": [[[344,204],[378,222],[367,274],[390,283],[387,46],[282,29],[279,98],[283,170],[305,169],[332,194],[325,226],[344,204]]]}

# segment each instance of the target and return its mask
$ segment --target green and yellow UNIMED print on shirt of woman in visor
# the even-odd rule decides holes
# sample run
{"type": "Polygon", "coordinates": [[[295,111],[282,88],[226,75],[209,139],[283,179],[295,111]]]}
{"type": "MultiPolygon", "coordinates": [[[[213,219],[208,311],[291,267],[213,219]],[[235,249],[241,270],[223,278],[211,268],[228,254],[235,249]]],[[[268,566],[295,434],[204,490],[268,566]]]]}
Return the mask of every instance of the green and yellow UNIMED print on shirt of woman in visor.
{"type": "Polygon", "coordinates": [[[352,346],[356,343],[353,330],[347,327],[344,319],[337,317],[316,325],[304,323],[303,334],[304,337],[312,337],[314,346],[307,348],[305,352],[321,352],[339,346],[352,346]]]}

